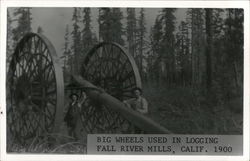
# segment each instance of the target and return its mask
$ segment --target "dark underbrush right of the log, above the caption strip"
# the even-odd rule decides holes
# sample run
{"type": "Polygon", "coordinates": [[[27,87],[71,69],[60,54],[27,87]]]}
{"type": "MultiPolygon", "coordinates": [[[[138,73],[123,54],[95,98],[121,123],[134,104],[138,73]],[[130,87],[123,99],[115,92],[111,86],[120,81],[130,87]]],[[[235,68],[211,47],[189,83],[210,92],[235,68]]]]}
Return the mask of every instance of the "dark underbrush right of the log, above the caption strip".
{"type": "Polygon", "coordinates": [[[145,86],[149,117],[178,134],[242,134],[242,98],[220,104],[190,87],[145,86]]]}

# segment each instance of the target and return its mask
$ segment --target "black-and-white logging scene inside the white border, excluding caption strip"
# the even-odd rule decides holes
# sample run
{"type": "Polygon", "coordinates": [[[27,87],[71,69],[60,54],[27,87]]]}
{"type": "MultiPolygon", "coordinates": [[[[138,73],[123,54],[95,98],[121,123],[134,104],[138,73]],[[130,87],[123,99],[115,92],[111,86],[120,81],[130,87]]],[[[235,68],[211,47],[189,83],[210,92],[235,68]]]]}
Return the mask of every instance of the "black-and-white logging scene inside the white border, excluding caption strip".
{"type": "Polygon", "coordinates": [[[90,134],[242,137],[244,16],[243,8],[8,7],[7,154],[90,154],[90,134]]]}

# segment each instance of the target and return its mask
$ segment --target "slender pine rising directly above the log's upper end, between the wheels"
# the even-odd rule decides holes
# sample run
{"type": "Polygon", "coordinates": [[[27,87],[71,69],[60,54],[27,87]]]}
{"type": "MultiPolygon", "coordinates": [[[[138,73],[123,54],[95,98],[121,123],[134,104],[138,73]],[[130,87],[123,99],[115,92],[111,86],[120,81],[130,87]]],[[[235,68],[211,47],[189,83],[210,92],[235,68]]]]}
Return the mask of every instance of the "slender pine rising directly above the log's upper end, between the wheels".
{"type": "Polygon", "coordinates": [[[73,11],[73,31],[71,33],[72,35],[72,52],[74,53],[74,65],[73,66],[73,73],[79,73],[80,69],[80,54],[81,54],[81,32],[80,32],[80,27],[79,27],[79,19],[80,19],[80,9],[79,8],[74,8],[73,11]]]}

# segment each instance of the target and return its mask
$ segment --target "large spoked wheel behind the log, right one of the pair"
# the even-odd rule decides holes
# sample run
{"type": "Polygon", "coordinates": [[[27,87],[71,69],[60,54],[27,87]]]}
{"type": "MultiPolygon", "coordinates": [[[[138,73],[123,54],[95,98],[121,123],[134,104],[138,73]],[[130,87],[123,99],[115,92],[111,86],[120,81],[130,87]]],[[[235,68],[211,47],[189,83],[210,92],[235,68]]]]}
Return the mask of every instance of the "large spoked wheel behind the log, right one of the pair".
{"type": "MultiPolygon", "coordinates": [[[[134,59],[116,43],[103,42],[96,45],[85,57],[81,74],[121,101],[133,97],[133,88],[141,88],[134,59]]],[[[82,108],[81,119],[88,133],[135,132],[131,122],[101,102],[87,100],[82,108]]]]}

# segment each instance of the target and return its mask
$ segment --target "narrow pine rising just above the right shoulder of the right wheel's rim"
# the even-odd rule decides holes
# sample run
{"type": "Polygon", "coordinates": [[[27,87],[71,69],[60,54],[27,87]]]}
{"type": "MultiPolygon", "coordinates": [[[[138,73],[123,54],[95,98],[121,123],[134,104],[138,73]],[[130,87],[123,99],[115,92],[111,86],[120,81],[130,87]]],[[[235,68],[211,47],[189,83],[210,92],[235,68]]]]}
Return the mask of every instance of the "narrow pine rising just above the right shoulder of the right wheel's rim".
{"type": "Polygon", "coordinates": [[[136,54],[136,13],[135,8],[127,8],[127,41],[129,53],[135,57],[136,54]]]}

